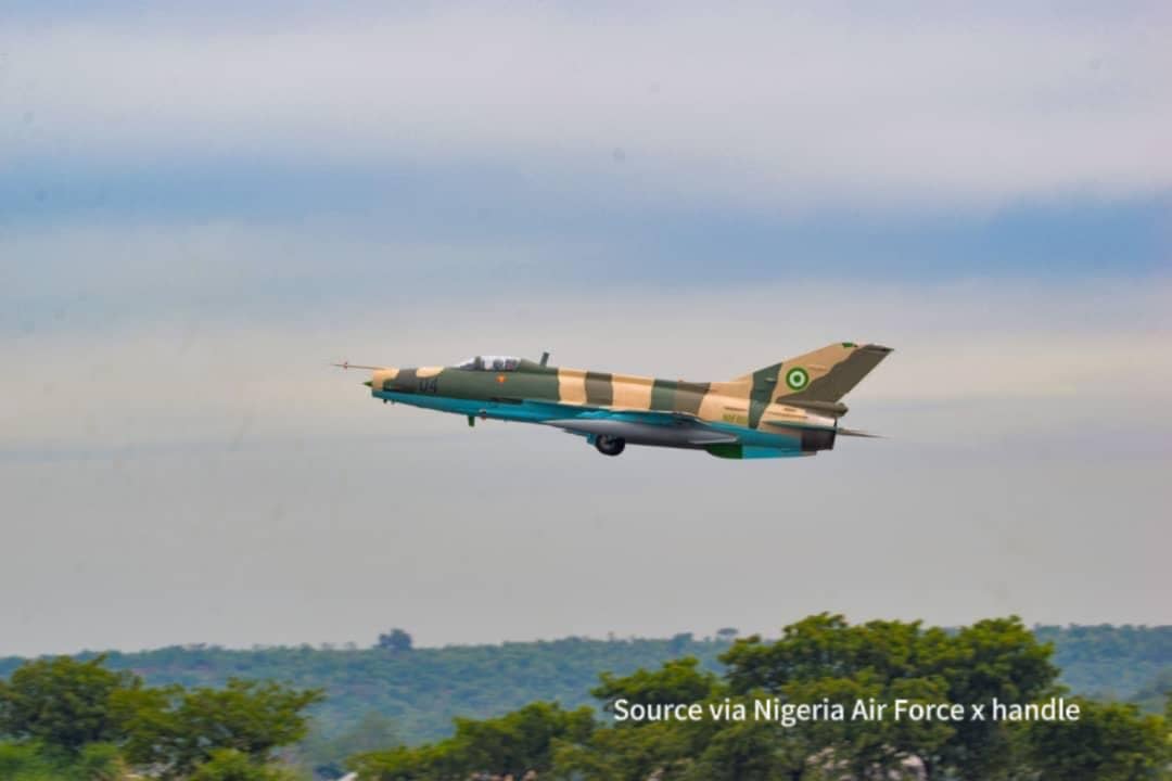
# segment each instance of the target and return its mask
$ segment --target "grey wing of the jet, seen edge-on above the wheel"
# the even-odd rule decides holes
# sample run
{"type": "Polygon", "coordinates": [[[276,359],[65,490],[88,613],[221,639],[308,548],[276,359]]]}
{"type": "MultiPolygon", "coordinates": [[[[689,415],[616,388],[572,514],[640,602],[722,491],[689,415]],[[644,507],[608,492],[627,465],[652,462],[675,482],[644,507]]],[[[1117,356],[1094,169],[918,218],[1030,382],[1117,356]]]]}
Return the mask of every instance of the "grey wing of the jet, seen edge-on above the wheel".
{"type": "Polygon", "coordinates": [[[633,445],[702,447],[737,441],[735,436],[713,429],[686,412],[593,410],[544,423],[582,437],[621,437],[633,445]]]}

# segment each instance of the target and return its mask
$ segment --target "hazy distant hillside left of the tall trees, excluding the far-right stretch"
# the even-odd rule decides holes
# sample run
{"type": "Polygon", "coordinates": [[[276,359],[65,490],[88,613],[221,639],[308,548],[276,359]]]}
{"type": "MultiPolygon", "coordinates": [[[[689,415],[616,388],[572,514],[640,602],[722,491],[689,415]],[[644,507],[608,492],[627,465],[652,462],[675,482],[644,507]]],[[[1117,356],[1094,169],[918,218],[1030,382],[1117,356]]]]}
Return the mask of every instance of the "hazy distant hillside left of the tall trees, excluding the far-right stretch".
{"type": "MultiPolygon", "coordinates": [[[[184,646],[141,653],[111,651],[105,658],[109,667],[131,670],[154,685],[220,686],[238,677],[321,688],[328,697],[314,706],[313,715],[322,737],[349,733],[373,712],[393,719],[404,741],[420,742],[451,734],[455,717],[499,715],[534,700],[585,705],[602,670],[626,673],[680,656],[695,656],[715,670],[717,655],[728,648],[729,640],[679,635],[613,642],[571,637],[409,651],[184,646]]],[[[22,662],[0,660],[0,678],[22,662]]]]}

